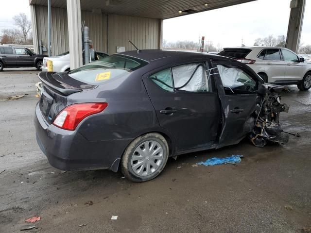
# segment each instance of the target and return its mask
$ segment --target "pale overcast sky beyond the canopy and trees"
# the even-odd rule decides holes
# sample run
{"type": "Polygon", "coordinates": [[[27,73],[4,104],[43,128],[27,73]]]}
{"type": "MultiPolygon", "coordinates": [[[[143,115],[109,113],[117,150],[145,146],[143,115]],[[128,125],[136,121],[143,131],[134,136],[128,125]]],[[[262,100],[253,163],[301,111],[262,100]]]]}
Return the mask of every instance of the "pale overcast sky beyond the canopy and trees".
{"type": "MultiPolygon", "coordinates": [[[[0,30],[13,28],[12,17],[24,12],[30,18],[29,0],[0,0],[0,30]]],[[[253,45],[258,37],[287,34],[290,0],[257,0],[222,9],[166,19],[167,41],[212,41],[221,47],[253,45]]],[[[311,0],[307,0],[301,42],[311,44],[311,0]]]]}

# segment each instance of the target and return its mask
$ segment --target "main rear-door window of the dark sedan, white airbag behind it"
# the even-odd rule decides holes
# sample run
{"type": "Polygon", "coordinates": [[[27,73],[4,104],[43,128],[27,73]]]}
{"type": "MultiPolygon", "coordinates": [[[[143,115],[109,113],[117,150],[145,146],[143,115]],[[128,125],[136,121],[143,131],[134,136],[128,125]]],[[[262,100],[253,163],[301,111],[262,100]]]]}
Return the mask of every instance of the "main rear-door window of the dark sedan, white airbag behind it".
{"type": "Polygon", "coordinates": [[[207,78],[204,63],[191,63],[172,67],[174,88],[176,91],[209,92],[210,81],[207,78]]]}

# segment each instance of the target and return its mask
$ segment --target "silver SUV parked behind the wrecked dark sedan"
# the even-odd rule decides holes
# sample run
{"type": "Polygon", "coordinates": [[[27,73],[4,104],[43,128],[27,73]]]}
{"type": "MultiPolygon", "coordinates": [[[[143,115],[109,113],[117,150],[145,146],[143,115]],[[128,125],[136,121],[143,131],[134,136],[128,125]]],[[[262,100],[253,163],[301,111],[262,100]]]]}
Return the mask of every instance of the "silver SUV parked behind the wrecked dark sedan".
{"type": "Polygon", "coordinates": [[[292,50],[280,47],[225,48],[218,55],[234,58],[251,67],[266,83],[311,87],[311,64],[292,50]]]}

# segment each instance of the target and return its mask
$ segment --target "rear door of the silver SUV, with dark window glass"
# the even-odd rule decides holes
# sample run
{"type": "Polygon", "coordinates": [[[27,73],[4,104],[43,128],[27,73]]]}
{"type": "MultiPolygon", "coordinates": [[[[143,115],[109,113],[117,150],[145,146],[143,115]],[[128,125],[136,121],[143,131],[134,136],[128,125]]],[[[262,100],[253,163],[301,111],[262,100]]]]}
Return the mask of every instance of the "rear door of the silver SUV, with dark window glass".
{"type": "Polygon", "coordinates": [[[279,49],[266,49],[263,61],[269,83],[284,79],[285,62],[281,59],[279,49]]]}

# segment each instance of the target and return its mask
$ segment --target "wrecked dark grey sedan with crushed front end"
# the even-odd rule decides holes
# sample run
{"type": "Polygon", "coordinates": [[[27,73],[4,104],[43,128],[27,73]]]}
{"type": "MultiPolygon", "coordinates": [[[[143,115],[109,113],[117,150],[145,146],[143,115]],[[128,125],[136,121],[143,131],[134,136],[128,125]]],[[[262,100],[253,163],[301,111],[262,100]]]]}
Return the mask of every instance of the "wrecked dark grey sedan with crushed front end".
{"type": "Polygon", "coordinates": [[[286,143],[278,123],[283,87],[266,86],[230,58],[181,51],[127,51],[71,70],[40,72],[39,147],[62,170],[110,169],[155,178],[168,157],[221,148],[248,136],[286,143]]]}

